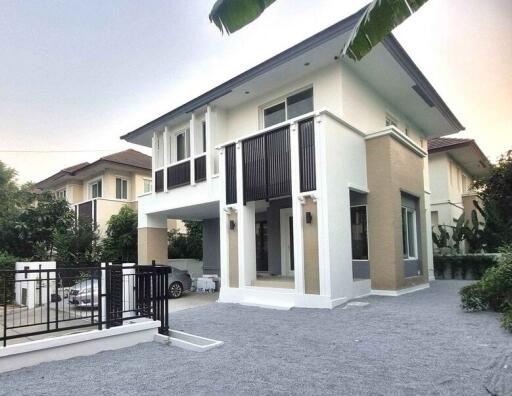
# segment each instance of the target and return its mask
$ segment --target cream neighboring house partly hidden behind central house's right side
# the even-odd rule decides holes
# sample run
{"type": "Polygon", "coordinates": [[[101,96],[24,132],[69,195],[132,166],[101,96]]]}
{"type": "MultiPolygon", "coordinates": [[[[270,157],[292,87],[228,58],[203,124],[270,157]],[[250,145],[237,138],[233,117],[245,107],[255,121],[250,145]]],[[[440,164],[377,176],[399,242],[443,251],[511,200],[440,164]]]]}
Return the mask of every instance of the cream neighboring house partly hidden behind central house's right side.
{"type": "Polygon", "coordinates": [[[487,157],[473,139],[445,137],[428,141],[428,157],[432,226],[453,226],[462,213],[470,219],[479,201],[471,184],[489,173],[487,157]]]}

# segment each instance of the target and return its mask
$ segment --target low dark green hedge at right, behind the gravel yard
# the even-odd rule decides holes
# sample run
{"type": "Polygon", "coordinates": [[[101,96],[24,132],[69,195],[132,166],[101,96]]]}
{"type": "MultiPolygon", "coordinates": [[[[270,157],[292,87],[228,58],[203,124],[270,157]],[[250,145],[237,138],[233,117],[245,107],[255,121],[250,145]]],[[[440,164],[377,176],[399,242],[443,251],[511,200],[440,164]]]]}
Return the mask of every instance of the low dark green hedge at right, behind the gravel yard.
{"type": "Polygon", "coordinates": [[[466,279],[468,272],[471,272],[473,279],[481,279],[485,271],[496,266],[495,255],[490,254],[459,254],[434,256],[434,273],[437,279],[445,279],[445,272],[450,270],[451,279],[460,275],[466,279]]]}

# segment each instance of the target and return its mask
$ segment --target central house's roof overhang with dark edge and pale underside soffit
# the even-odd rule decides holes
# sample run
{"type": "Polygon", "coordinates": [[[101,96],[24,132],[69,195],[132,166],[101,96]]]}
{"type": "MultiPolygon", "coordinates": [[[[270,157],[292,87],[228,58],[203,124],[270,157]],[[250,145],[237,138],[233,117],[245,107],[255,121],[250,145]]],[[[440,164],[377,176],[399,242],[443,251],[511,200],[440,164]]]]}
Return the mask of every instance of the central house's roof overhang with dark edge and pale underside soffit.
{"type": "MultiPolygon", "coordinates": [[[[154,131],[186,122],[189,113],[209,104],[235,106],[263,95],[279,85],[300,79],[315,69],[336,62],[351,30],[364,9],[327,29],[307,38],[246,72],[226,81],[203,95],[177,107],[155,120],[129,132],[121,139],[151,146],[154,131]],[[305,67],[305,63],[309,63],[305,67]],[[249,91],[250,95],[245,92],[249,91]]],[[[429,137],[459,132],[464,129],[448,106],[428,82],[402,46],[389,35],[362,61],[350,67],[383,97],[411,115],[429,137]],[[435,131],[435,132],[434,132],[435,131]],[[439,135],[438,135],[439,134],[439,135]]]]}

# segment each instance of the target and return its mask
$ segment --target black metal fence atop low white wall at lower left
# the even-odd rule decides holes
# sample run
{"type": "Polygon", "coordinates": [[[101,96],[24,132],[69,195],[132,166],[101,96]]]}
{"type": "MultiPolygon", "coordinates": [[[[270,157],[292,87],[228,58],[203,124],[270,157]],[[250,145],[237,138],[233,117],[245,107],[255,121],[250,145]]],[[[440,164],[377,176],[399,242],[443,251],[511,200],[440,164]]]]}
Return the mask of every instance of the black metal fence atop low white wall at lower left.
{"type": "Polygon", "coordinates": [[[159,332],[168,334],[169,272],[155,263],[2,270],[0,341],[108,329],[136,318],[158,320],[159,332]]]}

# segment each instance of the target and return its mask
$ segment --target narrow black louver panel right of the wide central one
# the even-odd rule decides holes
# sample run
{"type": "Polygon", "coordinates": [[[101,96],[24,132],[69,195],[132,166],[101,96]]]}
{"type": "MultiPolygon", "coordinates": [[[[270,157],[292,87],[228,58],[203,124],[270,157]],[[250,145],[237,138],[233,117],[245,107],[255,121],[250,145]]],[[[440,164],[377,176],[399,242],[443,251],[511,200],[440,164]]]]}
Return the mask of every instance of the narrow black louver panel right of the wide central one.
{"type": "Polygon", "coordinates": [[[314,120],[299,123],[300,191],[316,190],[315,128],[314,120]]]}

